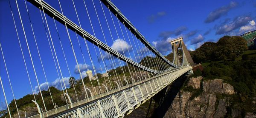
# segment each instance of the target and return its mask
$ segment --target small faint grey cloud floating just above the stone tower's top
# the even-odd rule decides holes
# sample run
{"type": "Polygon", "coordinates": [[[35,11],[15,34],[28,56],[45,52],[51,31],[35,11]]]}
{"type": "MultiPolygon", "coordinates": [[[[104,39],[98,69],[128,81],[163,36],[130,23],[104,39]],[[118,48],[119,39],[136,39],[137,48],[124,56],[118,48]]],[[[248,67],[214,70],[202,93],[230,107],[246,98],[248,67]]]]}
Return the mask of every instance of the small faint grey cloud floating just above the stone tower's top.
{"type": "Polygon", "coordinates": [[[180,35],[183,31],[186,31],[188,28],[186,26],[180,26],[176,28],[174,31],[162,31],[159,34],[159,37],[163,37],[164,39],[167,39],[171,35],[178,36],[180,35]]]}

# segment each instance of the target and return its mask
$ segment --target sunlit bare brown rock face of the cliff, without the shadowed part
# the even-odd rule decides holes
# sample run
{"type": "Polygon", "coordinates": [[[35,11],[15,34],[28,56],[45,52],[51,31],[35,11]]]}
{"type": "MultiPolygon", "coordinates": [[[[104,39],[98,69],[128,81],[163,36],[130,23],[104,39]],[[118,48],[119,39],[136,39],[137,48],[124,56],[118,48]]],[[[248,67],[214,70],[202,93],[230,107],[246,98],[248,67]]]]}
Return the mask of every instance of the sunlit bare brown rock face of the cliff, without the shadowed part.
{"type": "MultiPolygon", "coordinates": [[[[192,86],[201,94],[192,98],[196,92],[180,91],[174,98],[164,118],[221,118],[229,106],[225,99],[217,99],[220,94],[234,94],[234,88],[221,79],[202,81],[202,77],[190,78],[187,86],[192,86]],[[200,88],[202,81],[203,88],[200,88]]],[[[239,114],[239,112],[234,112],[239,114]]],[[[249,115],[248,115],[249,116],[249,115]]]]}

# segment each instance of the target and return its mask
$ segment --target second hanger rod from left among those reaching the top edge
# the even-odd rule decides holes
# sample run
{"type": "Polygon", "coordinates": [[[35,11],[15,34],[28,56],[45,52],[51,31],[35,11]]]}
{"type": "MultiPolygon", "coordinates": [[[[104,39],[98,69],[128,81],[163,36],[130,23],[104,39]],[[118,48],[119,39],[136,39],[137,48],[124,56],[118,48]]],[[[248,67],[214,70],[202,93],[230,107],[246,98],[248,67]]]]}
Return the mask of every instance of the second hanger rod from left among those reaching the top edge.
{"type": "Polygon", "coordinates": [[[29,43],[28,43],[28,40],[27,40],[27,37],[26,37],[26,32],[25,32],[25,29],[24,29],[24,26],[23,26],[23,22],[22,22],[22,18],[21,18],[21,15],[20,15],[20,9],[19,9],[17,0],[15,0],[15,2],[16,2],[16,5],[17,5],[17,10],[18,10],[19,16],[20,16],[20,22],[21,22],[21,26],[22,26],[22,29],[23,29],[23,34],[24,34],[24,37],[25,37],[25,40],[26,40],[26,45],[27,45],[27,48],[28,48],[28,51],[29,51],[30,60],[31,60],[32,67],[33,67],[33,70],[34,70],[34,73],[35,73],[35,78],[36,78],[36,81],[37,81],[37,84],[38,84],[39,91],[41,93],[41,98],[42,98],[42,101],[43,101],[43,104],[44,104],[45,111],[47,111],[45,103],[44,103],[44,98],[43,98],[43,95],[42,95],[42,92],[41,92],[40,84],[39,84],[39,81],[38,81],[37,73],[35,71],[35,65],[34,65],[32,55],[31,55],[31,52],[30,52],[30,49],[29,49],[29,43]]]}

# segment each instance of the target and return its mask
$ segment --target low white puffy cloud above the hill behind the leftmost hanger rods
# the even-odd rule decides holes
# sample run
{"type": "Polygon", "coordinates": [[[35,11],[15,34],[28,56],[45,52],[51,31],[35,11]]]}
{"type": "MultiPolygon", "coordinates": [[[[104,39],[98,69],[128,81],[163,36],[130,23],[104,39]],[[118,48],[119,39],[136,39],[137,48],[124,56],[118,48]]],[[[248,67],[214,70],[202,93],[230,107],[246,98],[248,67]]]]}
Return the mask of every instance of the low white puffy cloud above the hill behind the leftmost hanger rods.
{"type": "MultiPolygon", "coordinates": [[[[63,89],[65,89],[64,88],[64,83],[65,83],[67,88],[70,87],[70,84],[68,83],[69,79],[70,79],[70,77],[64,77],[63,80],[61,79],[61,82],[60,82],[60,79],[57,78],[57,79],[55,79],[55,81],[48,82],[48,84],[49,84],[49,87],[55,87],[58,90],[63,90],[63,89]],[[64,81],[64,83],[63,83],[63,81],[64,81]],[[61,87],[61,84],[62,84],[63,89],[61,87]]],[[[40,84],[40,89],[41,89],[41,91],[42,90],[48,90],[47,82],[44,82],[44,83],[40,84]]],[[[35,86],[33,91],[34,91],[35,94],[38,94],[39,93],[39,87],[35,86]]]]}

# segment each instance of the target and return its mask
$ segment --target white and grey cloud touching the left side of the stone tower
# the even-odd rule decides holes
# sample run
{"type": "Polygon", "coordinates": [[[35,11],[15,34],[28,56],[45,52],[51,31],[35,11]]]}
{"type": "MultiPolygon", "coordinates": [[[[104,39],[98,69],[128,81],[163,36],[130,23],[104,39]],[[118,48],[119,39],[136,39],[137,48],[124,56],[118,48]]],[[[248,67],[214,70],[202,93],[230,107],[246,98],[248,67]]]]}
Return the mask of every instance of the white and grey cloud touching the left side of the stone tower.
{"type": "Polygon", "coordinates": [[[160,51],[163,55],[169,54],[172,51],[172,45],[170,41],[175,38],[167,38],[159,41],[152,42],[157,51],[160,51]]]}

